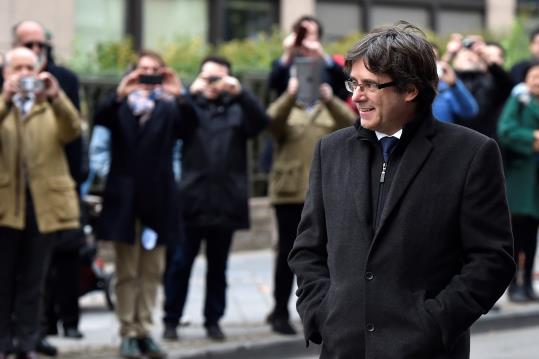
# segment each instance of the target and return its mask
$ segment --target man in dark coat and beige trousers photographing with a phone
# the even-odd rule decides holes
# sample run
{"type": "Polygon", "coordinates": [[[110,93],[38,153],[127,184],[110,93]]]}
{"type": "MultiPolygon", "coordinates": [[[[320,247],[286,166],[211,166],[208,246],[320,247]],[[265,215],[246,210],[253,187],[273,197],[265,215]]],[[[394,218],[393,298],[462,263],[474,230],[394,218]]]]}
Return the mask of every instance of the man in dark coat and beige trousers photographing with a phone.
{"type": "Polygon", "coordinates": [[[165,247],[181,239],[172,151],[190,110],[161,56],[139,53],[95,114],[110,131],[110,169],[97,238],[114,242],[120,355],[163,358],[150,335],[165,247]]]}

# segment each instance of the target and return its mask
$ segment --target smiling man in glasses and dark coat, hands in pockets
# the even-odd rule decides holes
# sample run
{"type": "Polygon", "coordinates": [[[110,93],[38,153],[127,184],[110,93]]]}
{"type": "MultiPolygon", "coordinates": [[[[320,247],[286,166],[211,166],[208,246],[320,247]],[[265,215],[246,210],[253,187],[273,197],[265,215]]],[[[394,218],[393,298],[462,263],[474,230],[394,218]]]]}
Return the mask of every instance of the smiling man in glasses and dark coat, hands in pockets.
{"type": "Polygon", "coordinates": [[[323,138],[289,264],[321,358],[461,359],[512,278],[494,140],[435,121],[434,52],[408,23],[347,54],[355,127],[323,138]]]}

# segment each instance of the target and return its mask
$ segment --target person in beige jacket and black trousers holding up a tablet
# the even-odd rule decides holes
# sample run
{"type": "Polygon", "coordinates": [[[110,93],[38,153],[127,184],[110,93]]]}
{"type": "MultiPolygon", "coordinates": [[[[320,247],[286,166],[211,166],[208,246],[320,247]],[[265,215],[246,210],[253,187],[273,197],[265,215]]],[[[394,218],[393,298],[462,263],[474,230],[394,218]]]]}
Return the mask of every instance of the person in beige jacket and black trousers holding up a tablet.
{"type": "Polygon", "coordinates": [[[356,119],[354,112],[334,95],[327,83],[319,85],[316,98],[300,101],[300,88],[310,85],[291,77],[287,91],[267,111],[271,119],[268,130],[273,139],[275,159],[269,176],[269,197],[278,227],[273,290],[275,303],[267,321],[274,332],[284,335],[296,334],[289,321],[288,301],[294,274],[288,267],[287,258],[296,238],[307,193],[313,149],[320,138],[351,126],[356,119]]]}

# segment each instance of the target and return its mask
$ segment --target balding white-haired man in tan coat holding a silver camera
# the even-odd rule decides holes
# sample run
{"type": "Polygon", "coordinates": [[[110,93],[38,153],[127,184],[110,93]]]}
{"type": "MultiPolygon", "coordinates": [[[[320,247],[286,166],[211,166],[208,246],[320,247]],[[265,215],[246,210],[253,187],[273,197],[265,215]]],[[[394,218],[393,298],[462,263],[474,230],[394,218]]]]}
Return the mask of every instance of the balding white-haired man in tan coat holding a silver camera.
{"type": "Polygon", "coordinates": [[[80,115],[28,48],[7,52],[0,97],[0,358],[37,358],[43,284],[56,233],[79,227],[64,145],[80,115]],[[15,336],[15,337],[13,337],[15,336]],[[17,347],[14,347],[14,343],[17,347]]]}

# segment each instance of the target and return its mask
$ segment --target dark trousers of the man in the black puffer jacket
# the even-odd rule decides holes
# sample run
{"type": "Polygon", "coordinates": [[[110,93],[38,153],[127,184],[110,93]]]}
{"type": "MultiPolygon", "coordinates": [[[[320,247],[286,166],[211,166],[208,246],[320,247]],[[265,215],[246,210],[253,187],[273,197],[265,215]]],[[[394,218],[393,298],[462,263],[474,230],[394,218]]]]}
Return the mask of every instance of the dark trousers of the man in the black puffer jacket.
{"type": "Polygon", "coordinates": [[[226,307],[226,269],[233,233],[223,228],[187,227],[185,240],[168,247],[163,318],[166,324],[177,325],[182,317],[193,262],[203,240],[207,263],[204,325],[217,324],[223,317],[226,307]]]}

